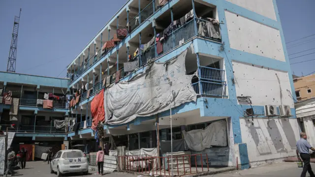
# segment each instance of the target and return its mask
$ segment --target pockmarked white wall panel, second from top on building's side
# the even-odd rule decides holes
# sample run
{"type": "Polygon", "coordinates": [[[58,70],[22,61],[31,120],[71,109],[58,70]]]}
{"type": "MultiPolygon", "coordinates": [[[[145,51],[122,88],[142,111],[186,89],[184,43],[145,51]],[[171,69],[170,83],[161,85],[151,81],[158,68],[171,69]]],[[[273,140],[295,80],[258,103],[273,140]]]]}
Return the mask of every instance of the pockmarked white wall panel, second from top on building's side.
{"type": "Polygon", "coordinates": [[[230,47],[285,62],[280,31],[225,11],[230,47]]]}

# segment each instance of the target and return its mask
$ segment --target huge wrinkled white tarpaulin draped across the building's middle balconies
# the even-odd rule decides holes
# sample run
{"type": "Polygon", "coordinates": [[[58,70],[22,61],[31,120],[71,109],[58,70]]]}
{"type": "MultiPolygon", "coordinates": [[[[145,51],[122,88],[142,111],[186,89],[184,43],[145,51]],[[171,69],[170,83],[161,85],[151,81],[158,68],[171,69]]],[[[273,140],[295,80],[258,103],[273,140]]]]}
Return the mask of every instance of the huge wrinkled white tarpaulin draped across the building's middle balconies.
{"type": "Polygon", "coordinates": [[[112,84],[104,93],[106,123],[119,125],[196,101],[186,75],[187,49],[167,63],[153,63],[126,82],[112,84]]]}

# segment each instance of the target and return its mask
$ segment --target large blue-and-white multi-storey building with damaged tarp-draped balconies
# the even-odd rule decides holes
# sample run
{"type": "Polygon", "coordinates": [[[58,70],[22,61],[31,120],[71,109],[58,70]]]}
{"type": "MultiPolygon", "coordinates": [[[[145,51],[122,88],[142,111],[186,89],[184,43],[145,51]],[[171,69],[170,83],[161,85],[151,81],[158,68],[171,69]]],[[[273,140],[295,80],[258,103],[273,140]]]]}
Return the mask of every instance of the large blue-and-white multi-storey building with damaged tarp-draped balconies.
{"type": "MultiPolygon", "coordinates": [[[[236,166],[238,158],[245,169],[296,155],[296,98],[276,0],[159,2],[128,0],[67,67],[70,93],[80,96],[70,109],[79,122],[79,131],[67,135],[72,142],[91,142],[92,149],[96,147],[90,128],[91,101],[105,90],[105,136],[119,136],[116,144],[130,150],[157,147],[157,135],[164,141],[182,139],[183,130],[223,120],[222,137],[214,135],[218,142],[206,149],[211,165],[236,166]],[[169,72],[158,70],[162,67],[158,64],[152,67],[152,61],[166,62],[176,56],[172,61],[185,58],[185,70],[182,65],[169,72]],[[154,74],[141,81],[142,71],[154,74]],[[192,75],[196,71],[198,77],[192,75]],[[116,73],[122,77],[116,79],[116,73]],[[151,98],[160,101],[157,106],[151,98]],[[145,104],[151,109],[139,111],[145,104]],[[289,116],[265,116],[280,112],[281,105],[289,116]],[[245,110],[249,116],[244,116],[245,110]]],[[[163,65],[168,66],[172,62],[163,65]]]]}

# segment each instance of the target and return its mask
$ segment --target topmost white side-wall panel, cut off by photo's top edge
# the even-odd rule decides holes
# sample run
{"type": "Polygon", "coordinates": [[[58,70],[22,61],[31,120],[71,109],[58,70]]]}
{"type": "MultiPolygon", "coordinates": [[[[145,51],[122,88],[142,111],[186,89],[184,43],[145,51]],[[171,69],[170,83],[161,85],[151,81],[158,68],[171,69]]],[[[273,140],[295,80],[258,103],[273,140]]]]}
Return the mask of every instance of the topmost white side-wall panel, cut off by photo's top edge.
{"type": "Polygon", "coordinates": [[[277,21],[273,0],[227,0],[227,1],[277,21]]]}

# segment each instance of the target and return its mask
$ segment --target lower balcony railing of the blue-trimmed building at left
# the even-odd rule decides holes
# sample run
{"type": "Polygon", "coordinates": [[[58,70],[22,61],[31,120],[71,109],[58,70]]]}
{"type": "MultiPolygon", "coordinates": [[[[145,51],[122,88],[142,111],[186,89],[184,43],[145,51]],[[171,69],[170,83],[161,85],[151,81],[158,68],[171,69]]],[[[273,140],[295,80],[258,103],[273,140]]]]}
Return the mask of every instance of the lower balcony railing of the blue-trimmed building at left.
{"type": "MultiPolygon", "coordinates": [[[[1,125],[1,131],[6,131],[7,127],[11,125],[1,125]]],[[[64,130],[56,129],[54,126],[33,126],[33,125],[20,125],[15,130],[8,129],[9,132],[23,132],[23,133],[65,133],[64,130]]]]}

